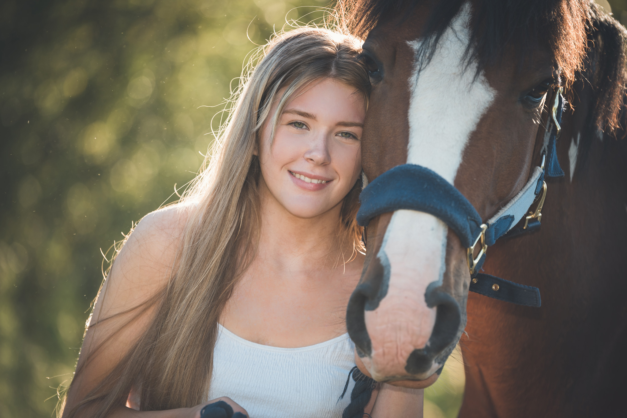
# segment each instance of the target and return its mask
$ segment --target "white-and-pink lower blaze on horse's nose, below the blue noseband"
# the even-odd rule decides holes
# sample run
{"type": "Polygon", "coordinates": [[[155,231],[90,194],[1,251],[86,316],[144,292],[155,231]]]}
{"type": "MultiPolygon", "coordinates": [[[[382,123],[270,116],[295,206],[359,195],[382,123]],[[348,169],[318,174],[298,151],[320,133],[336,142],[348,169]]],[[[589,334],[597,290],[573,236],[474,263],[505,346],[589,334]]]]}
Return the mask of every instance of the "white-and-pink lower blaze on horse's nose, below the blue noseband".
{"type": "MultiPolygon", "coordinates": [[[[364,315],[372,355],[371,360],[362,361],[374,379],[406,374],[404,367],[411,352],[428,342],[436,310],[426,306],[424,293],[431,281],[442,277],[445,254],[443,222],[424,212],[404,209],[394,212],[377,254],[390,273],[387,294],[376,310],[366,311],[364,315]],[[435,245],[418,246],[421,241],[435,245]]],[[[440,367],[432,367],[433,370],[418,378],[426,379],[440,367]]]]}

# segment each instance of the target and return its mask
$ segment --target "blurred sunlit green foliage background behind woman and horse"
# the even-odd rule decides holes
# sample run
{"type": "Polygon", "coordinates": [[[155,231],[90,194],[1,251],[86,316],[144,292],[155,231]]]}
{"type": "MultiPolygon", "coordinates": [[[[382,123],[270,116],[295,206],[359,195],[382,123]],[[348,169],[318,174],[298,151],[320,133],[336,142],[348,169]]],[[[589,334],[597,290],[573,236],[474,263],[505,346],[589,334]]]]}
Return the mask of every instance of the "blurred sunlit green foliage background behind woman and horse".
{"type": "MultiPolygon", "coordinates": [[[[627,0],[599,3],[627,23],[627,0]]],[[[102,281],[101,250],[192,179],[255,44],[324,6],[0,2],[1,418],[51,416],[102,281]]],[[[463,386],[456,352],[425,392],[425,417],[456,417],[463,386]]]]}

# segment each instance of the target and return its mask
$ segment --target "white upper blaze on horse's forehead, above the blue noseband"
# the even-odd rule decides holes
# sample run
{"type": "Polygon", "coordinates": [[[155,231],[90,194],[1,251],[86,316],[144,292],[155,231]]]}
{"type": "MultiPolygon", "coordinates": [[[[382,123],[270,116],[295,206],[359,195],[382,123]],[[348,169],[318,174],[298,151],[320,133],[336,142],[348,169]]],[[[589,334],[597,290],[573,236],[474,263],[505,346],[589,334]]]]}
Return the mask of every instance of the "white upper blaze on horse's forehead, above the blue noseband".
{"type": "MultiPolygon", "coordinates": [[[[409,80],[408,164],[435,171],[453,184],[466,143],[490,107],[496,91],[483,71],[475,80],[477,64],[466,68],[470,41],[470,4],[466,3],[442,35],[433,59],[409,80]]],[[[409,42],[418,50],[423,40],[409,42]]]]}

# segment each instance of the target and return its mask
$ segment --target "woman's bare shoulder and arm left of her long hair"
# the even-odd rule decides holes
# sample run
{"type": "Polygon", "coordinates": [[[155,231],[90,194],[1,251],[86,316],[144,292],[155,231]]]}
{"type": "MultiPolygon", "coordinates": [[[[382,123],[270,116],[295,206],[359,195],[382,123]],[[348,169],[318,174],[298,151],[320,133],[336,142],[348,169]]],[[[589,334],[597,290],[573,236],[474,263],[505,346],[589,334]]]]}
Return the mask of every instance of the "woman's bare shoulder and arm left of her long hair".
{"type": "Polygon", "coordinates": [[[152,212],[120,249],[90,317],[68,393],[70,407],[111,372],[149,327],[159,306],[152,303],[154,296],[171,277],[188,216],[189,207],[180,205],[152,212]]]}

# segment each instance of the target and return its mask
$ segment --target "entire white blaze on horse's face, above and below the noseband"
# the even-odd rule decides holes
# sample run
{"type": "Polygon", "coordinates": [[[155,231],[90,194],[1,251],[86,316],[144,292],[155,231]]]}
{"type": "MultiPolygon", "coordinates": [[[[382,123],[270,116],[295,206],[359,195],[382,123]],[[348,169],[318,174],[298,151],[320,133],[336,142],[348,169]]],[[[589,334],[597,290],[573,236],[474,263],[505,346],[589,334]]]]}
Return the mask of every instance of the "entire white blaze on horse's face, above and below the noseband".
{"type": "MultiPolygon", "coordinates": [[[[453,184],[470,135],[495,97],[483,71],[475,79],[477,64],[466,66],[470,4],[451,21],[435,55],[409,80],[408,164],[418,164],[453,184]]],[[[424,39],[409,42],[413,50],[424,39]]],[[[406,374],[409,354],[428,343],[436,308],[424,300],[429,283],[441,283],[446,269],[448,227],[424,212],[394,212],[377,256],[389,263],[387,295],[374,311],[366,311],[372,357],[365,363],[375,379],[406,374]]],[[[365,360],[365,359],[364,359],[365,360]]],[[[433,364],[426,379],[440,367],[433,364]]]]}

